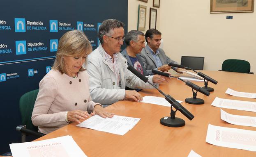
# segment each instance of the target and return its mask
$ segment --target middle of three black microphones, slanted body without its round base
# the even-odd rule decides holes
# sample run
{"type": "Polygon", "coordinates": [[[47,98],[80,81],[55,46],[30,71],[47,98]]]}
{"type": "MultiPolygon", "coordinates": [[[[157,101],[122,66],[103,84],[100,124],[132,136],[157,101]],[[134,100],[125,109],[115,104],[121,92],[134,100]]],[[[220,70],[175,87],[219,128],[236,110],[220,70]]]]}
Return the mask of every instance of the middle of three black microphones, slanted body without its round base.
{"type": "MultiPolygon", "coordinates": [[[[155,73],[157,75],[162,75],[162,76],[165,76],[165,77],[175,77],[175,76],[169,75],[168,73],[164,73],[164,72],[161,72],[161,71],[156,71],[155,69],[152,69],[151,71],[152,71],[152,73],[155,73]]],[[[196,84],[194,84],[194,83],[192,83],[190,81],[187,81],[187,80],[185,81],[183,79],[180,79],[179,77],[175,77],[175,78],[185,82],[187,86],[190,86],[192,89],[194,89],[196,91],[199,91],[200,93],[203,93],[205,96],[209,96],[210,95],[209,91],[201,88],[200,86],[198,86],[198,85],[196,85],[196,84]]]]}

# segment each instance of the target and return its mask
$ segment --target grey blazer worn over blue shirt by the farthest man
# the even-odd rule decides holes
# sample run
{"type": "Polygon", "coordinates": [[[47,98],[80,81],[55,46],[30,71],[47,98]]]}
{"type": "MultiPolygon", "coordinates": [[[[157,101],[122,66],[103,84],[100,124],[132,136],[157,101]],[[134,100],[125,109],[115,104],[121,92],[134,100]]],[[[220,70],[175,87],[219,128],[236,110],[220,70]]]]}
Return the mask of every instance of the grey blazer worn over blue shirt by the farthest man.
{"type": "MultiPolygon", "coordinates": [[[[158,50],[159,50],[158,56],[163,65],[169,64],[169,63],[178,64],[178,62],[173,61],[170,57],[166,56],[163,49],[159,48],[158,50]]],[[[140,56],[141,56],[141,59],[143,60],[144,68],[146,69],[146,75],[154,75],[151,70],[152,69],[157,70],[157,63],[153,58],[148,45],[141,50],[140,56]]],[[[177,69],[176,67],[172,67],[172,68],[175,71],[177,69]]]]}

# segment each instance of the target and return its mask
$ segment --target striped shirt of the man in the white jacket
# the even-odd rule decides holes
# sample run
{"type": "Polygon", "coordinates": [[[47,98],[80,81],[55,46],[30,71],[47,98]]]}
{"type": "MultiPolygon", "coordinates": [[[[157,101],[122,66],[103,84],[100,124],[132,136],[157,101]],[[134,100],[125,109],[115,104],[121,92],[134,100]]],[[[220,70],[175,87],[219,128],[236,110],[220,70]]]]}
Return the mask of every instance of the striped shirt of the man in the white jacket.
{"type": "Polygon", "coordinates": [[[118,69],[118,55],[114,53],[113,58],[114,62],[112,60],[112,57],[108,55],[106,52],[104,53],[108,67],[113,71],[116,77],[116,83],[117,86],[119,87],[119,82],[120,82],[120,74],[119,74],[119,69],[118,69]]]}

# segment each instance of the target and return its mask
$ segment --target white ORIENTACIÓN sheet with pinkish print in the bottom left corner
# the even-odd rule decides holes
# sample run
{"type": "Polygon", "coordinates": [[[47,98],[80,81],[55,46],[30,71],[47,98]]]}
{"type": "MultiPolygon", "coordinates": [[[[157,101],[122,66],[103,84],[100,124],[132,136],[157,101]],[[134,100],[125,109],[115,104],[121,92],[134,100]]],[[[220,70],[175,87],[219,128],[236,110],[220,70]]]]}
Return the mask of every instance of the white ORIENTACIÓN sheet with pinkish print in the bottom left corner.
{"type": "Polygon", "coordinates": [[[10,144],[13,157],[87,157],[71,136],[10,144]]]}

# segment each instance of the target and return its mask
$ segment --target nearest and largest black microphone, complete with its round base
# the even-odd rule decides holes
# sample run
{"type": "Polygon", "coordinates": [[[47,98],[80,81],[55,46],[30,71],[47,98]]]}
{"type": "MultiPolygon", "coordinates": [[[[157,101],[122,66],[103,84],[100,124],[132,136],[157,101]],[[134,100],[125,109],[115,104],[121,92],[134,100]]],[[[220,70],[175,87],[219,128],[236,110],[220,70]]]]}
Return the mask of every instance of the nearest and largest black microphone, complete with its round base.
{"type": "Polygon", "coordinates": [[[170,95],[166,95],[164,92],[162,92],[160,89],[158,89],[156,86],[154,86],[151,82],[148,81],[148,78],[145,77],[144,75],[142,75],[141,73],[139,73],[138,71],[136,71],[136,69],[134,69],[132,66],[128,66],[127,69],[129,71],[131,71],[131,73],[133,73],[134,75],[136,75],[137,77],[139,77],[141,80],[143,80],[144,82],[148,82],[149,84],[151,84],[153,87],[155,87],[155,89],[157,89],[162,95],[165,96],[165,99],[171,104],[171,118],[161,118],[160,123],[166,126],[171,126],[171,127],[180,127],[185,125],[185,121],[182,120],[182,123],[177,124],[177,121],[180,121],[180,118],[175,118],[175,112],[177,110],[179,110],[184,116],[186,116],[189,120],[192,120],[194,118],[194,115],[191,114],[187,109],[185,109],[185,107],[183,107],[178,101],[176,101],[174,98],[172,98],[170,95]],[[172,106],[176,109],[176,111],[173,111],[172,113],[172,106]],[[173,115],[174,114],[174,115],[173,115]],[[163,119],[163,120],[162,120],[163,119]],[[168,120],[169,119],[169,120],[168,120]],[[172,119],[172,120],[170,120],[172,119]],[[175,121],[175,120],[177,121],[175,121]],[[171,122],[170,122],[171,121],[171,122]],[[176,123],[174,123],[174,121],[176,123]]]}

